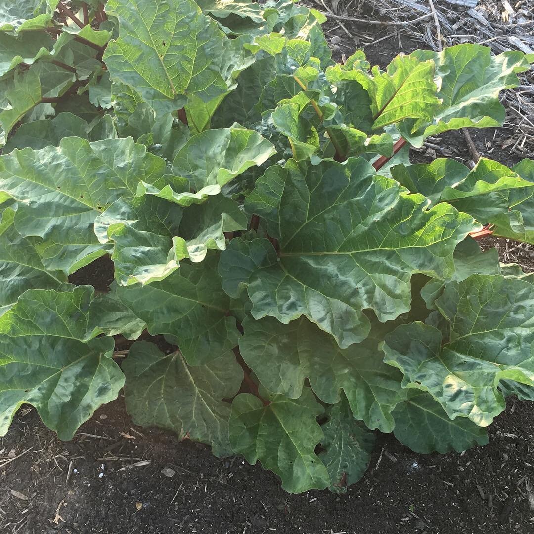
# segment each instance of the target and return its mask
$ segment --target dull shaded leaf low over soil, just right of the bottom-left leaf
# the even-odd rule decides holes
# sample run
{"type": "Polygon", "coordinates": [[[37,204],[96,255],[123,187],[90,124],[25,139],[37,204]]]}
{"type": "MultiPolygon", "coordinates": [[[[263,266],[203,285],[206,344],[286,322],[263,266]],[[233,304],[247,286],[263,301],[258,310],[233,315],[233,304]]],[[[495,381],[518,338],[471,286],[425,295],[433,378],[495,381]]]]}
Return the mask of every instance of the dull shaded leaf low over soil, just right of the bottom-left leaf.
{"type": "Polygon", "coordinates": [[[146,341],[133,343],[123,364],[125,402],[133,422],[159,426],[211,445],[217,457],[230,456],[228,420],[243,370],[231,354],[191,367],[179,351],[163,354],[146,341]]]}

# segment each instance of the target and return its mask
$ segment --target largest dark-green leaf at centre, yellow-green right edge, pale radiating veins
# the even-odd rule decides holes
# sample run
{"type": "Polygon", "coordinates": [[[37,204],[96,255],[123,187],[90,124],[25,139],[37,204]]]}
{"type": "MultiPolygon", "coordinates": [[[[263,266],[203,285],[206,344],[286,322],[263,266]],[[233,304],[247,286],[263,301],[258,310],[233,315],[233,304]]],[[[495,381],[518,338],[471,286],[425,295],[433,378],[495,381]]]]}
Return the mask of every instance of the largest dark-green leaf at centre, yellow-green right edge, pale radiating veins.
{"type": "Polygon", "coordinates": [[[346,348],[369,333],[362,310],[387,321],[410,309],[413,273],[452,273],[454,247],[476,228],[473,219],[445,203],[425,210],[421,195],[374,172],[361,158],[290,160],[256,182],[245,208],[279,244],[279,261],[249,279],[256,319],[287,324],[305,315],[346,348]]]}

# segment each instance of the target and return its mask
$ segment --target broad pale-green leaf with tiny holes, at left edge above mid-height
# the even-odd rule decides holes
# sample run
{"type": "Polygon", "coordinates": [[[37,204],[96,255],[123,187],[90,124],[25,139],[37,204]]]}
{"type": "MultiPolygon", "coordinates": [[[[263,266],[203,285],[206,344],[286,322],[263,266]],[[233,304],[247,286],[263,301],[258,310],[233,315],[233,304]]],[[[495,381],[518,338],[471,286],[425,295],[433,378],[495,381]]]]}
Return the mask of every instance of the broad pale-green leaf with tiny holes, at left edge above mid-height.
{"type": "Polygon", "coordinates": [[[14,225],[36,245],[49,270],[70,274],[105,254],[93,231],[96,217],[118,198],[135,195],[140,180],[154,183],[164,161],[129,139],[89,143],[68,137],[59,147],[0,156],[0,190],[19,201],[14,225]]]}

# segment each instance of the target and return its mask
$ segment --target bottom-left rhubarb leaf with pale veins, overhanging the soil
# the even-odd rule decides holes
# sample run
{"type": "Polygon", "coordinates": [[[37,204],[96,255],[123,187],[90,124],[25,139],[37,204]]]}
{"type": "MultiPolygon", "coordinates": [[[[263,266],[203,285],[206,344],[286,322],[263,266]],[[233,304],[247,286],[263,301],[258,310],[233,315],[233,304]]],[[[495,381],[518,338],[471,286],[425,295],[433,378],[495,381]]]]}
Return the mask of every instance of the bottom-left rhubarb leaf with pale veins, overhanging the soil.
{"type": "Polygon", "coordinates": [[[0,317],[1,435],[27,403],[61,439],[71,439],[119,394],[124,376],[111,359],[113,339],[90,339],[92,293],[90,286],[29,289],[0,317]]]}

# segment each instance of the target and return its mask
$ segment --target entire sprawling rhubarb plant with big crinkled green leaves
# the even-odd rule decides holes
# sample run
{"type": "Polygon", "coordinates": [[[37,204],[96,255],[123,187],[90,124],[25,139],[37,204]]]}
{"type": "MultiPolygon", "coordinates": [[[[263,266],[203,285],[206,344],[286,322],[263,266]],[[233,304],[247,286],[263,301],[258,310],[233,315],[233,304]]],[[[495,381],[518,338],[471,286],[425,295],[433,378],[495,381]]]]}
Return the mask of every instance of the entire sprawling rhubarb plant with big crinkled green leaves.
{"type": "Polygon", "coordinates": [[[534,243],[534,162],[408,156],[502,124],[534,58],[336,64],[323,21],[0,1],[0,434],[28,403],[70,439],[124,387],[140,425],[343,492],[375,429],[463,451],[534,400],[534,277],[469,237],[534,243]],[[103,256],[108,290],[69,283],[103,256]]]}

